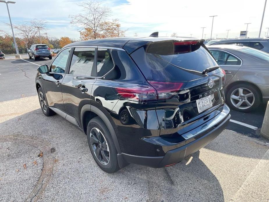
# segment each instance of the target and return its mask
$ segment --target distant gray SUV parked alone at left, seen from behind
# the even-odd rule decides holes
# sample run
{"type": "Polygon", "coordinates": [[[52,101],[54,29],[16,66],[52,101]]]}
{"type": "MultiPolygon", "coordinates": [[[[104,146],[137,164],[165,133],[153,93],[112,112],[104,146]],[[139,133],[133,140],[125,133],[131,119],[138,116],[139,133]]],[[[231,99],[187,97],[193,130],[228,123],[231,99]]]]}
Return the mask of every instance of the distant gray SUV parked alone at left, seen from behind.
{"type": "Polygon", "coordinates": [[[28,49],[29,59],[49,58],[52,59],[50,48],[46,44],[34,44],[28,49]]]}

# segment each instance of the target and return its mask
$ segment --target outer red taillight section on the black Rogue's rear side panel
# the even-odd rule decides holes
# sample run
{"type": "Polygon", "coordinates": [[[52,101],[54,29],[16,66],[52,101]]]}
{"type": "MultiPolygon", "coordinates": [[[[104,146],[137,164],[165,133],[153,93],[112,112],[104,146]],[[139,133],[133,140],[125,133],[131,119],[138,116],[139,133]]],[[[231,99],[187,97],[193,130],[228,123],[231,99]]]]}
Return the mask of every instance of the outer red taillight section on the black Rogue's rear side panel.
{"type": "Polygon", "coordinates": [[[137,102],[157,101],[156,90],[150,85],[113,87],[120,98],[137,102]]]}

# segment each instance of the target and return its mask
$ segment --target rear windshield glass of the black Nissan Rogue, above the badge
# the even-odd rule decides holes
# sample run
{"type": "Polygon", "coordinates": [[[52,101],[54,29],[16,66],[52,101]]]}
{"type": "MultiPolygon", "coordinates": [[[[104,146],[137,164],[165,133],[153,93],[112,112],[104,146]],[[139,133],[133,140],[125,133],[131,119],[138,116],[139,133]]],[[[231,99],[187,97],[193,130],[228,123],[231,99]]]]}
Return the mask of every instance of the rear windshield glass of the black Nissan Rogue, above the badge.
{"type": "Polygon", "coordinates": [[[206,76],[203,70],[218,65],[200,44],[177,45],[171,41],[151,43],[131,57],[148,80],[190,81],[206,76]]]}

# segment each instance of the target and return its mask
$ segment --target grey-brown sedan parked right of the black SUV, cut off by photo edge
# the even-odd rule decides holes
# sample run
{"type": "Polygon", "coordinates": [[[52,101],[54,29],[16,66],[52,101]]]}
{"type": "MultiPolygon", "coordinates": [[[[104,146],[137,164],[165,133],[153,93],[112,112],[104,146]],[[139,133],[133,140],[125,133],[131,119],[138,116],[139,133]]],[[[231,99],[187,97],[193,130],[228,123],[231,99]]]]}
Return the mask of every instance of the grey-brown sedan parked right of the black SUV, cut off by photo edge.
{"type": "Polygon", "coordinates": [[[226,102],[248,112],[269,100],[269,54],[241,45],[212,45],[208,49],[226,72],[226,102]]]}

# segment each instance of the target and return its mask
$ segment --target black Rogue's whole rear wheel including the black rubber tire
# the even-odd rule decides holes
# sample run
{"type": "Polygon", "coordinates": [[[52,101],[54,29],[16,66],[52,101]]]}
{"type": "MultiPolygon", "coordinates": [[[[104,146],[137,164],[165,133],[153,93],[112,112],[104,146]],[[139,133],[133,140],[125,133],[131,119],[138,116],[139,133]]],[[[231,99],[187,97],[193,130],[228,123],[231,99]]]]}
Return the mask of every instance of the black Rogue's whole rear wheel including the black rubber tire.
{"type": "Polygon", "coordinates": [[[115,173],[120,169],[117,160],[117,150],[115,144],[108,130],[108,127],[100,117],[94,117],[89,121],[87,126],[87,139],[92,156],[97,165],[103,171],[107,173],[115,173]],[[100,134],[99,137],[101,137],[101,141],[99,141],[97,137],[98,133],[100,134]],[[105,141],[107,144],[105,144],[105,141]],[[107,148],[105,148],[106,146],[107,148]],[[101,149],[98,149],[98,147],[101,149]],[[99,152],[101,156],[98,154],[96,155],[95,152],[99,152]],[[99,156],[99,158],[97,158],[97,156],[99,156]],[[104,158],[102,158],[103,156],[104,158]]]}

